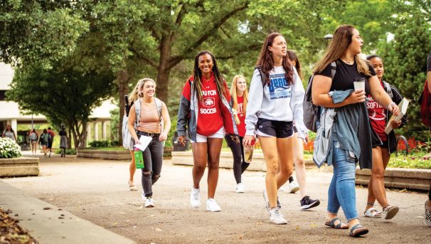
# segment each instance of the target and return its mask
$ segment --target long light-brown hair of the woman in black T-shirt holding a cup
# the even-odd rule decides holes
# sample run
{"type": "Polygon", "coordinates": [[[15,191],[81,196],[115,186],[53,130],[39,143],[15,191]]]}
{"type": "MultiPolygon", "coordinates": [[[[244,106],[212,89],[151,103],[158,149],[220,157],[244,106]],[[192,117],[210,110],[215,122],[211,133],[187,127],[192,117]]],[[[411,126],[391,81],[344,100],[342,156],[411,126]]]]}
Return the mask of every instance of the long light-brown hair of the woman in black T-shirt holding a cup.
{"type": "MultiPolygon", "coordinates": [[[[329,44],[329,47],[326,49],[324,57],[321,58],[319,63],[314,67],[314,74],[321,73],[331,62],[334,62],[339,58],[343,58],[348,46],[352,42],[354,29],[355,27],[351,25],[341,25],[336,28],[334,37],[332,38],[331,44],[329,44]]],[[[363,60],[358,54],[356,54],[355,61],[358,73],[371,75],[366,60],[363,60]]]]}

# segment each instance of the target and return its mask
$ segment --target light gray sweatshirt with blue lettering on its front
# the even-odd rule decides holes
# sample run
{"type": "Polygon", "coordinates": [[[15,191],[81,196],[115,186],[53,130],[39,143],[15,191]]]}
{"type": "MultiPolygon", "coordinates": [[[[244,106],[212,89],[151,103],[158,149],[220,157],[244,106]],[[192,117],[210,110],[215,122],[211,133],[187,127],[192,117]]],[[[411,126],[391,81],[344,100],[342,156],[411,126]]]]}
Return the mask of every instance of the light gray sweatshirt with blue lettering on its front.
{"type": "Polygon", "coordinates": [[[307,127],[304,125],[302,102],[304,87],[294,69],[294,85],[288,85],[284,78],[284,68],[274,67],[270,71],[270,85],[262,87],[259,70],[255,69],[248,95],[247,114],[245,117],[245,135],[255,136],[257,119],[276,121],[295,121],[298,137],[305,138],[307,127]]]}

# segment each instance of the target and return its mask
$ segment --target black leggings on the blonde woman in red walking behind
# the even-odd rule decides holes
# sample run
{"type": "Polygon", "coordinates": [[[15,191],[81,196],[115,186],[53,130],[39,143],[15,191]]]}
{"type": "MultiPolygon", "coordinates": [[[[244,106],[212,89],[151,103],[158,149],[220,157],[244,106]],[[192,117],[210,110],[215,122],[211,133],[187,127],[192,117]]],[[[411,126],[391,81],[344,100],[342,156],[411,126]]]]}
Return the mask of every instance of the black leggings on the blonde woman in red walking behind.
{"type": "Polygon", "coordinates": [[[244,173],[245,169],[250,165],[244,160],[244,147],[243,138],[239,137],[240,143],[236,143],[230,137],[230,134],[225,135],[226,142],[233,154],[233,176],[235,176],[236,184],[241,183],[241,174],[244,173]]]}

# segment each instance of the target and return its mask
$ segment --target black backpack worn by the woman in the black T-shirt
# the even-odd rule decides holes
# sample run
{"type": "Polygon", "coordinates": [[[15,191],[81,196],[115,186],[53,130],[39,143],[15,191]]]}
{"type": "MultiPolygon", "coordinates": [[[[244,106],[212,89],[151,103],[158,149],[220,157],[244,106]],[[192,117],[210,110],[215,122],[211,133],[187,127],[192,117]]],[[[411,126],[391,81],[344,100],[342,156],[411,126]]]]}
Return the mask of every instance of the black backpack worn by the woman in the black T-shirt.
{"type": "MultiPolygon", "coordinates": [[[[334,79],[336,72],[336,62],[331,62],[331,79],[334,79]]],[[[302,109],[304,110],[304,124],[307,129],[312,132],[317,132],[317,122],[320,120],[320,107],[316,106],[312,102],[312,75],[308,80],[307,89],[305,90],[304,102],[302,103],[302,109]]]]}

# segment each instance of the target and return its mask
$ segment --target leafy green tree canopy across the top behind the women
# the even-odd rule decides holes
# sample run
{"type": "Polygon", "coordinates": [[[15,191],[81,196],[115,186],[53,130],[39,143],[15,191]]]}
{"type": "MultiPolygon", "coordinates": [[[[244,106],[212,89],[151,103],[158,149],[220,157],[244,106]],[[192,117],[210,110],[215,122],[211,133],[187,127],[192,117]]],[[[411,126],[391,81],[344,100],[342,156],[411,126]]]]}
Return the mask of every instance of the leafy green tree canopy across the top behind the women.
{"type": "MultiPolygon", "coordinates": [[[[393,72],[402,69],[410,79],[420,76],[419,71],[395,66],[391,58],[398,52],[390,48],[408,48],[400,52],[405,57],[429,51],[426,45],[406,46],[417,37],[405,33],[419,28],[409,26],[409,19],[420,19],[422,31],[429,30],[430,1],[9,0],[0,7],[0,60],[60,72],[65,60],[73,58],[79,60],[73,68],[77,75],[110,73],[116,83],[105,86],[116,87],[120,117],[122,97],[142,77],[157,81],[157,96],[176,112],[193,57],[203,49],[215,54],[228,81],[239,73],[250,78],[262,42],[272,31],[282,33],[288,48],[297,52],[306,80],[324,51],[323,36],[340,24],[352,24],[365,41],[363,51],[387,58],[387,77],[409,95],[419,92],[418,84],[402,85],[393,72]]],[[[422,65],[420,55],[415,62],[422,65]]]]}

